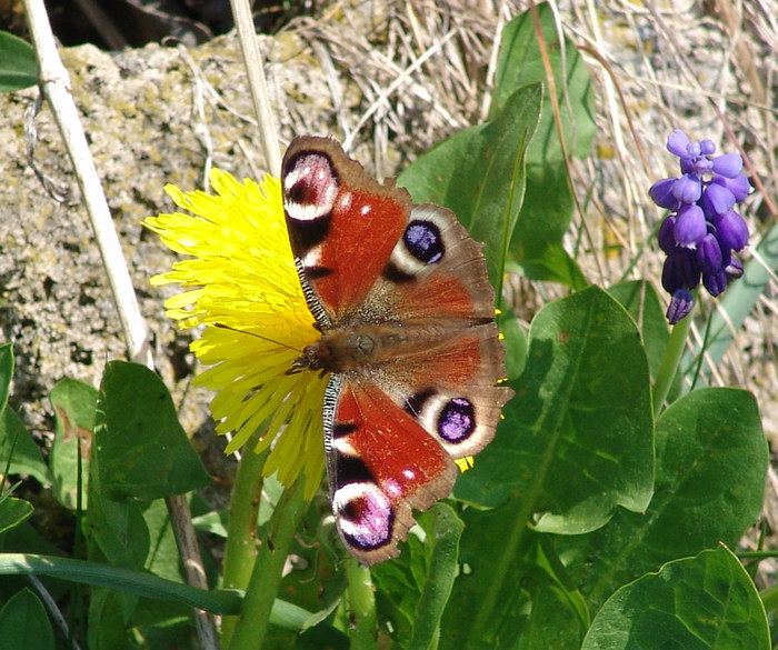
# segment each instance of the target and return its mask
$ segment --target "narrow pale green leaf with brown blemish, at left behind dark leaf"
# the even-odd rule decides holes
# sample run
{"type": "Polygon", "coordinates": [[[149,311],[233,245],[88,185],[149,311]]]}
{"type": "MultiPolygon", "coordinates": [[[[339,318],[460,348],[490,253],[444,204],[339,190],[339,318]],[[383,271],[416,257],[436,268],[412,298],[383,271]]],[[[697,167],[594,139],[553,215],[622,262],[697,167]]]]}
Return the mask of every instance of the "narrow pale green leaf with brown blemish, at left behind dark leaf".
{"type": "Polygon", "coordinates": [[[63,379],[54,386],[49,399],[54,410],[54,441],[50,458],[54,496],[66,508],[76,508],[80,453],[81,507],[86,510],[98,391],[83,381],[63,379]]]}

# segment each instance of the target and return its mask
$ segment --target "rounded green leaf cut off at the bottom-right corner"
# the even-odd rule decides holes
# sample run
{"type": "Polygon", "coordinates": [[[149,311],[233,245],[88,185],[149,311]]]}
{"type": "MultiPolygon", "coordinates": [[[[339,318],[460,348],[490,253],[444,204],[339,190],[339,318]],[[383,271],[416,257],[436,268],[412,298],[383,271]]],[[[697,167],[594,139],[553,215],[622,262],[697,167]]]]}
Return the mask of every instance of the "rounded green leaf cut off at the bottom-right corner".
{"type": "Polygon", "coordinates": [[[668,562],[602,606],[581,650],[769,650],[754,582],[726,548],[668,562]]]}

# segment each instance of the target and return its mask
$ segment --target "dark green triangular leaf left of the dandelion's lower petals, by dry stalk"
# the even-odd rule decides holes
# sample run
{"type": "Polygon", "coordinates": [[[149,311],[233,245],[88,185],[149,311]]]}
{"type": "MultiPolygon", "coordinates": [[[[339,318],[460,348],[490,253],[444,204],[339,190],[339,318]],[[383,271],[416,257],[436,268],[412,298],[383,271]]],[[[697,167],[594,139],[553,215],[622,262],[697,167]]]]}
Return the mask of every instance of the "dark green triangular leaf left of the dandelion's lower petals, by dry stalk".
{"type": "Polygon", "coordinates": [[[112,498],[158,499],[211,482],[192,449],[170,393],[144,366],[112,361],[98,400],[94,444],[102,488],[112,498]]]}

